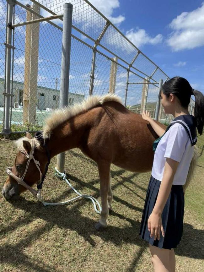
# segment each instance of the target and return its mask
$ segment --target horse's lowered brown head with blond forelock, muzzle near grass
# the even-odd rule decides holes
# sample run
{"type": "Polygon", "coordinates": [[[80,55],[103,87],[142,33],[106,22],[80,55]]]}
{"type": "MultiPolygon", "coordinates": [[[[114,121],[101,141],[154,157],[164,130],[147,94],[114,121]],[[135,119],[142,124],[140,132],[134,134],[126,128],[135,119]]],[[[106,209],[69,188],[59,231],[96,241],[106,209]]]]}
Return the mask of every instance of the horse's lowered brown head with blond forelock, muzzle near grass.
{"type": "Polygon", "coordinates": [[[17,182],[18,178],[29,186],[35,183],[39,184],[41,180],[40,172],[44,173],[48,161],[43,144],[36,138],[32,138],[30,133],[26,133],[26,137],[17,140],[16,144],[19,151],[13,167],[10,167],[12,174],[7,177],[2,190],[6,199],[18,199],[19,195],[26,190],[24,186],[17,182]]]}

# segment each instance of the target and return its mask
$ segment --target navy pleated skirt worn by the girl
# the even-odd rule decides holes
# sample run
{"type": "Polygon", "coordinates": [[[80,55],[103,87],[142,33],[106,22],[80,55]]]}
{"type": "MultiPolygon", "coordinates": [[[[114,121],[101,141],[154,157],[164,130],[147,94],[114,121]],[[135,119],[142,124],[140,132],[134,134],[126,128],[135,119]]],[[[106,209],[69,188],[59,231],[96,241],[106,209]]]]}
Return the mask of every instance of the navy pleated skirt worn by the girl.
{"type": "Polygon", "coordinates": [[[176,248],[183,235],[184,191],[182,185],[172,185],[169,198],[164,206],[161,216],[164,237],[160,234],[159,241],[157,239],[154,241],[154,237],[151,238],[150,231],[148,231],[148,218],[156,203],[160,184],[161,181],[150,177],[142,214],[140,237],[152,246],[166,249],[176,248]]]}

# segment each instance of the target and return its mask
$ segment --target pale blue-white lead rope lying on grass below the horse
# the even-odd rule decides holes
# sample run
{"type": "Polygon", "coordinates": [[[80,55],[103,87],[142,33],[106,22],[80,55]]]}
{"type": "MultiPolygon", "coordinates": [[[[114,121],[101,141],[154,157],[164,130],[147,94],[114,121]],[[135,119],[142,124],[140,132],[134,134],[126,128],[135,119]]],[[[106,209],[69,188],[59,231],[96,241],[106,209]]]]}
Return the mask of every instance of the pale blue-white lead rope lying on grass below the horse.
{"type": "Polygon", "coordinates": [[[40,200],[44,206],[57,206],[57,205],[64,205],[64,204],[67,204],[67,203],[70,203],[70,202],[73,202],[79,198],[86,198],[86,199],[90,199],[92,202],[93,202],[93,205],[94,205],[94,209],[95,211],[97,212],[97,214],[101,214],[101,205],[100,203],[98,202],[97,199],[95,199],[93,196],[90,196],[90,195],[87,195],[87,194],[80,194],[76,189],[74,189],[74,187],[71,185],[71,183],[67,180],[67,176],[65,173],[61,173],[60,171],[58,171],[55,167],[55,175],[58,177],[58,178],[61,178],[63,180],[65,180],[67,182],[67,184],[69,185],[69,187],[76,193],[78,194],[77,197],[73,198],[73,199],[70,199],[70,200],[67,200],[67,201],[63,201],[63,202],[59,202],[59,203],[49,203],[49,202],[45,202],[42,200],[41,198],[41,193],[40,193],[40,190],[37,194],[37,199],[40,200]],[[97,205],[98,205],[98,208],[97,208],[97,205]]]}

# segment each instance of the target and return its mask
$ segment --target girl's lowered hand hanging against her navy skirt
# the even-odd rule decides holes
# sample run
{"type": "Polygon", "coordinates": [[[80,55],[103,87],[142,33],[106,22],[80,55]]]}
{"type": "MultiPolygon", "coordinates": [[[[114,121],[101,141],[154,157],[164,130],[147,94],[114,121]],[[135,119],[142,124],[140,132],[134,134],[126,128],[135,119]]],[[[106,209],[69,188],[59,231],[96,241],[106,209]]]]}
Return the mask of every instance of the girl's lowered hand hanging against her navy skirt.
{"type": "Polygon", "coordinates": [[[151,213],[148,219],[148,231],[150,231],[150,237],[154,237],[154,241],[160,239],[160,232],[162,232],[162,236],[164,237],[161,215],[153,212],[151,213]]]}

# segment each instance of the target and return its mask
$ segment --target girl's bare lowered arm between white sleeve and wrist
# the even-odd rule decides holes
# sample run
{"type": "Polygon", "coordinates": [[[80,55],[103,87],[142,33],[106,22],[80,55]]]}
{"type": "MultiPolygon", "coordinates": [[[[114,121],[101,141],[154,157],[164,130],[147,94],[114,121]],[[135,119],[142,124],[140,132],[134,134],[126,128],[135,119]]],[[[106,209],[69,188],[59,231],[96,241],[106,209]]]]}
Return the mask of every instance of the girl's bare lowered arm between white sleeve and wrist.
{"type": "Polygon", "coordinates": [[[171,191],[174,175],[178,167],[178,164],[179,163],[177,161],[167,158],[165,167],[164,167],[162,182],[161,182],[158,196],[157,196],[157,201],[153,208],[153,213],[156,213],[159,215],[162,214],[166,201],[169,197],[169,193],[171,191]]]}

